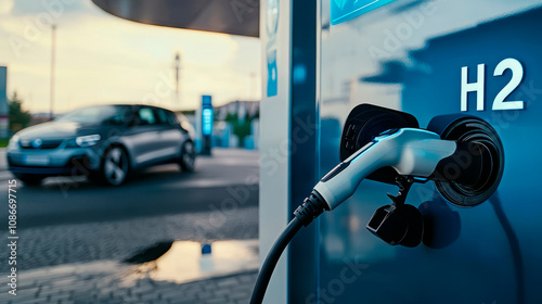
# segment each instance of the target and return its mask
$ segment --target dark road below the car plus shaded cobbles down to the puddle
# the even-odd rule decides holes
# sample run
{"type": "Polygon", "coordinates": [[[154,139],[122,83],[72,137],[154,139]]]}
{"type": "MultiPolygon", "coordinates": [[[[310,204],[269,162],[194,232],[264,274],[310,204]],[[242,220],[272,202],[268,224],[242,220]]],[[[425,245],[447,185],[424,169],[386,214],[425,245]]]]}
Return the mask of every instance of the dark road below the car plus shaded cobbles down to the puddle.
{"type": "MultiPolygon", "coordinates": [[[[83,177],[49,178],[40,187],[17,182],[17,265],[27,270],[122,261],[163,241],[255,239],[258,159],[255,151],[215,150],[212,157],[198,157],[195,173],[162,165],[120,187],[96,186],[83,177]]],[[[0,173],[4,240],[12,178],[0,173]]]]}

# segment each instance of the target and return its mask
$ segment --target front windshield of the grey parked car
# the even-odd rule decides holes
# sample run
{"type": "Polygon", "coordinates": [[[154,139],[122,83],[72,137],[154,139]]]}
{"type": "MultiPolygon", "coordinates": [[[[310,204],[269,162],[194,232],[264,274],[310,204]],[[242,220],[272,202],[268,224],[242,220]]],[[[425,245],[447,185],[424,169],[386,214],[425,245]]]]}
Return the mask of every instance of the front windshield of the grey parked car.
{"type": "Polygon", "coordinates": [[[57,122],[119,125],[124,123],[125,113],[126,106],[121,105],[88,106],[66,113],[57,122]]]}

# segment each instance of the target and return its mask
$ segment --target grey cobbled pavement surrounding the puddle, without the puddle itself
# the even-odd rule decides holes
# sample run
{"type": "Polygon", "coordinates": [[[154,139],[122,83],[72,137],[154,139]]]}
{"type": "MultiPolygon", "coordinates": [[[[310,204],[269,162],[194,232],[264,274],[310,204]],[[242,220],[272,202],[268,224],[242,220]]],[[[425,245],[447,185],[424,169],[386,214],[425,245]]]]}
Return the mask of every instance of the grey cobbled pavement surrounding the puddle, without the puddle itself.
{"type": "Polygon", "coordinates": [[[220,227],[208,225],[210,215],[28,229],[20,238],[17,295],[8,293],[3,275],[0,303],[248,303],[256,270],[179,284],[153,280],[137,266],[119,263],[159,241],[257,238],[257,207],[238,210],[220,227]],[[44,264],[55,266],[41,267],[44,264]]]}

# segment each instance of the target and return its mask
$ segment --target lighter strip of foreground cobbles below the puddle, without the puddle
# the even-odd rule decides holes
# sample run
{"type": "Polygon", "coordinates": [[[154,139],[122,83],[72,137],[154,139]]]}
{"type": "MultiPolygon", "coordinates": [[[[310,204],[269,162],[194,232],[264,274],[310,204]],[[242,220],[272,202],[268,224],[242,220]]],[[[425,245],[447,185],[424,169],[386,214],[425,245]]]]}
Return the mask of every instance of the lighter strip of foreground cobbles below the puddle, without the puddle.
{"type": "Polygon", "coordinates": [[[121,271],[115,263],[56,267],[23,273],[17,295],[8,294],[9,287],[0,287],[0,302],[7,304],[246,304],[256,281],[256,271],[176,284],[138,278],[130,266],[121,271]],[[127,275],[129,274],[129,275],[127,275]],[[130,277],[131,276],[131,277],[130,277]]]}

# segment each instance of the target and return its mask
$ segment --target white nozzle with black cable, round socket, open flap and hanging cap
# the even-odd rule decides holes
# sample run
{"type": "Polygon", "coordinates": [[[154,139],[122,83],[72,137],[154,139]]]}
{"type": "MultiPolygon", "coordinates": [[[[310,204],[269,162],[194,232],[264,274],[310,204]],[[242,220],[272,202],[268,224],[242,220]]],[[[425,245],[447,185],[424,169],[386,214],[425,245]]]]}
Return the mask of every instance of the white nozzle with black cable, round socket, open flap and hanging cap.
{"type": "Polygon", "coordinates": [[[414,116],[371,104],[349,114],[340,139],[341,163],[326,174],[294,212],[259,273],[250,300],[261,303],[272,271],[286,245],[302,226],[350,198],[363,179],[399,187],[390,204],[376,210],[366,228],[392,245],[417,246],[424,218],[405,198],[415,182],[433,180],[450,203],[475,206],[499,187],[504,152],[495,130],[466,115],[437,116],[421,129],[414,116]]]}

